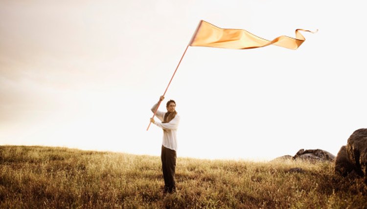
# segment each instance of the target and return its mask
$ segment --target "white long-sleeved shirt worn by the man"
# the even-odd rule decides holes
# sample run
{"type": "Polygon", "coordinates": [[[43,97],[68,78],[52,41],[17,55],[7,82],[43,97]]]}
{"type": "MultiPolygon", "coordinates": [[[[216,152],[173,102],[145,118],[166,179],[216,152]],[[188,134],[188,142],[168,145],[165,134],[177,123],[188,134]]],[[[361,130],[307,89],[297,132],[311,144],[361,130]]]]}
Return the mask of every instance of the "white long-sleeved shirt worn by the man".
{"type": "MultiPolygon", "coordinates": [[[[153,113],[156,110],[157,105],[158,103],[154,104],[153,107],[151,108],[153,113]]],[[[165,112],[159,110],[157,110],[156,112],[157,118],[160,119],[161,121],[164,120],[164,114],[165,112]]],[[[168,123],[161,123],[154,121],[155,125],[163,129],[162,145],[164,147],[177,151],[177,128],[179,126],[179,123],[180,123],[180,116],[178,114],[176,114],[175,118],[173,118],[168,123]]]]}

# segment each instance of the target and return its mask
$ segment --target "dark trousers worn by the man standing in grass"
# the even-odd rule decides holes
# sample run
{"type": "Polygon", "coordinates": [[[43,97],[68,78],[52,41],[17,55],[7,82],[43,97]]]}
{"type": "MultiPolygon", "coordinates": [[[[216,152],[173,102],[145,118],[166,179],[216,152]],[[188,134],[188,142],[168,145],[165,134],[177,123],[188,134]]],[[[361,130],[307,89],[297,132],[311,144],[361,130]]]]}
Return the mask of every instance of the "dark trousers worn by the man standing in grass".
{"type": "Polygon", "coordinates": [[[162,146],[161,160],[164,178],[164,191],[175,191],[176,151],[162,146]]]}

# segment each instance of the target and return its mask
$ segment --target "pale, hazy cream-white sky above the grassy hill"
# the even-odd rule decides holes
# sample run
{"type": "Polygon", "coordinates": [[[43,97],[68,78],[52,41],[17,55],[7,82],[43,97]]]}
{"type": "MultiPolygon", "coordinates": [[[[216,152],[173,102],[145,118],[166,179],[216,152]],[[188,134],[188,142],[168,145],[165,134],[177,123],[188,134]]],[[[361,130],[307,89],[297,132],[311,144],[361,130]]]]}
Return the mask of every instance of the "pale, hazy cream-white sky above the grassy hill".
{"type": "Polygon", "coordinates": [[[159,156],[150,108],[205,20],[267,40],[318,32],[297,50],[188,47],[165,95],[181,117],[178,157],[336,155],[366,127],[362,3],[0,0],[0,145],[159,156]]]}

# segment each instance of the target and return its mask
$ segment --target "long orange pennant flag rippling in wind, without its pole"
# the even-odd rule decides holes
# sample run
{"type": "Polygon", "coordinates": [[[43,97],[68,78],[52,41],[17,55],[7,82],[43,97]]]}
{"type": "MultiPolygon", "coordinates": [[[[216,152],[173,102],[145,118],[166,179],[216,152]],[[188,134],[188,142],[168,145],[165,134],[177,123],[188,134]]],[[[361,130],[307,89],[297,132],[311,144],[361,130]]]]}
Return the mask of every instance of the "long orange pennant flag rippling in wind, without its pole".
{"type": "Polygon", "coordinates": [[[289,49],[297,49],[305,41],[305,38],[299,31],[315,33],[309,30],[297,29],[296,38],[279,36],[273,41],[268,41],[243,29],[223,29],[209,22],[200,21],[189,45],[228,49],[251,49],[274,44],[289,49]]]}

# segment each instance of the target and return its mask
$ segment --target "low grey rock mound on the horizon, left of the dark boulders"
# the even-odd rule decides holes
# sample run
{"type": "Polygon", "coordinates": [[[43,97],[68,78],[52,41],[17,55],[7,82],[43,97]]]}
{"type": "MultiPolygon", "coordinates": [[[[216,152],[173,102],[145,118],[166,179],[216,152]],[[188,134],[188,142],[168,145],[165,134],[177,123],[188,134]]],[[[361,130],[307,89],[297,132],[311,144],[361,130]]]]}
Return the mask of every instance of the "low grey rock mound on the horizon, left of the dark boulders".
{"type": "Polygon", "coordinates": [[[300,149],[293,159],[333,161],[335,155],[322,149],[300,149]]]}

